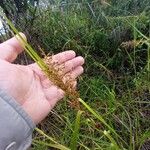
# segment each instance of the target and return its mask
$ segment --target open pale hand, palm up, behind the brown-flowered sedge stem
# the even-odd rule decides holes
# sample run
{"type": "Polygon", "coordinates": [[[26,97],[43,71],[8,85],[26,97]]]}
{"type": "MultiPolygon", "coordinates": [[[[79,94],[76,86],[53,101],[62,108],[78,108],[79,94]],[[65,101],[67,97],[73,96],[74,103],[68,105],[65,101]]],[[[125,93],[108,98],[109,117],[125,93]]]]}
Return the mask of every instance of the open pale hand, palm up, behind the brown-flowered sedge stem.
{"type": "MultiPolygon", "coordinates": [[[[38,124],[65,93],[48,80],[36,63],[27,66],[12,64],[22,51],[16,37],[0,44],[0,88],[14,97],[38,124]]],[[[53,62],[65,66],[64,80],[68,74],[76,79],[83,73],[84,59],[75,55],[74,51],[66,51],[52,57],[53,62]]]]}

